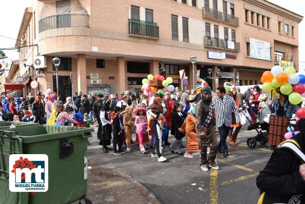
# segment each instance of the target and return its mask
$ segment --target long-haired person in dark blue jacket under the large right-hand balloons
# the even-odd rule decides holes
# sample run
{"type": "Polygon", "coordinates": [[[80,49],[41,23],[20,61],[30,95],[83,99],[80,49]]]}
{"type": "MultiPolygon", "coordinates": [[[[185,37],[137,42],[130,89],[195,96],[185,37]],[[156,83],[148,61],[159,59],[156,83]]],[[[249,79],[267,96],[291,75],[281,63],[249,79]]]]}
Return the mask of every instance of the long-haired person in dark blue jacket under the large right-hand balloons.
{"type": "Polygon", "coordinates": [[[271,113],[273,115],[291,118],[292,114],[297,110],[297,105],[291,104],[288,100],[288,96],[282,94],[279,88],[276,92],[276,98],[269,101],[271,113]]]}

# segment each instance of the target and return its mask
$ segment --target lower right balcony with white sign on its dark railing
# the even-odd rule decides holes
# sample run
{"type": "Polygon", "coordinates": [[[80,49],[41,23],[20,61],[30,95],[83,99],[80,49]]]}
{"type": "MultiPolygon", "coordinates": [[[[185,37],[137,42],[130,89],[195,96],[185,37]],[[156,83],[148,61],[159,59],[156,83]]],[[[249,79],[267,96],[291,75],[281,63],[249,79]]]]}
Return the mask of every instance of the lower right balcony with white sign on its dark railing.
{"type": "Polygon", "coordinates": [[[240,44],[238,42],[233,42],[225,39],[219,39],[219,38],[212,38],[212,37],[204,37],[204,46],[205,47],[212,47],[216,49],[225,49],[230,50],[233,52],[239,52],[240,51],[240,44]]]}

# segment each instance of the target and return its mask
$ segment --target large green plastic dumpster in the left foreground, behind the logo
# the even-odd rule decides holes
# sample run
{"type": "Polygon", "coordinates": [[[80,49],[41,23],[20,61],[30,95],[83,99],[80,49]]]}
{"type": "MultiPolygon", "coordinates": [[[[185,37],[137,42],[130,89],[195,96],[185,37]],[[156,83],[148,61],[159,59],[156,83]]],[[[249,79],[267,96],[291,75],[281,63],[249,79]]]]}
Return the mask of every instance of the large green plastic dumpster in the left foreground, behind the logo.
{"type": "Polygon", "coordinates": [[[84,201],[87,193],[87,138],[92,128],[36,125],[0,129],[0,203],[61,204],[84,201]],[[48,155],[47,192],[9,191],[11,154],[48,155]]]}

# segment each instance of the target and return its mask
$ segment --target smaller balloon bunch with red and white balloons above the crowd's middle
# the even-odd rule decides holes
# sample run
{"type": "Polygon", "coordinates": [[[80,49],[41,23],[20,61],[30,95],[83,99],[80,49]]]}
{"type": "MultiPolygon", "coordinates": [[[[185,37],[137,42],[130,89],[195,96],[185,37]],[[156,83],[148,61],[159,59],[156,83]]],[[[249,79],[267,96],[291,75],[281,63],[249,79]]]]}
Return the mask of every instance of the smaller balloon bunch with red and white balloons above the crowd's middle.
{"type": "Polygon", "coordinates": [[[173,79],[171,77],[167,77],[166,79],[164,76],[161,75],[152,75],[148,74],[147,78],[142,80],[142,87],[141,90],[146,96],[153,96],[158,89],[162,89],[164,92],[172,92],[175,90],[174,86],[171,84],[173,79]]]}

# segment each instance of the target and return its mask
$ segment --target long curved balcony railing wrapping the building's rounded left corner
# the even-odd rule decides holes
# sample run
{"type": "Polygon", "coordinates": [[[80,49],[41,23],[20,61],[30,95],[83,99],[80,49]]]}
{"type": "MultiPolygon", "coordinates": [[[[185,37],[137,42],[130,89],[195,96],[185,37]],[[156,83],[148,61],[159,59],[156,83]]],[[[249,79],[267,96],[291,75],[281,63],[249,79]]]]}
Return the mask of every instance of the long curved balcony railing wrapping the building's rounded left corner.
{"type": "Polygon", "coordinates": [[[89,27],[87,14],[56,14],[39,20],[39,33],[60,27],[89,27]]]}

